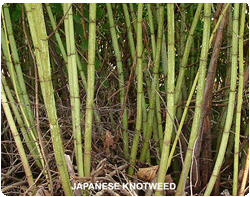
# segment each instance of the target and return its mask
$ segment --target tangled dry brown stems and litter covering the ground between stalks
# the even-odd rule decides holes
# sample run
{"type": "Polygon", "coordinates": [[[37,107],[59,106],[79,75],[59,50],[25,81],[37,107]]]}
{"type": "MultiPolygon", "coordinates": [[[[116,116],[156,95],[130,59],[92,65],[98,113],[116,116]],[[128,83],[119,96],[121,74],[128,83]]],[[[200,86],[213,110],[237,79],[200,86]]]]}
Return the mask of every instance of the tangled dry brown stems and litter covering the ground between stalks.
{"type": "MultiPolygon", "coordinates": [[[[98,89],[98,88],[97,88],[98,89]]],[[[81,98],[85,98],[86,95],[81,95],[81,98]]],[[[96,111],[100,114],[101,122],[97,123],[94,122],[93,126],[93,142],[92,142],[92,162],[91,162],[91,175],[92,178],[90,179],[84,179],[81,177],[78,177],[77,174],[71,174],[71,180],[72,180],[72,187],[74,184],[80,184],[78,185],[79,189],[74,190],[75,195],[81,195],[81,185],[83,183],[116,183],[120,185],[119,190],[91,190],[89,195],[125,195],[125,196],[134,196],[134,195],[145,195],[145,194],[152,194],[154,190],[150,189],[142,189],[142,190],[134,190],[133,188],[130,189],[128,187],[125,187],[125,189],[121,188],[122,184],[128,183],[148,183],[153,181],[153,178],[155,178],[156,174],[153,175],[151,179],[145,179],[145,177],[138,178],[137,176],[129,176],[127,174],[127,168],[129,166],[129,160],[126,160],[124,158],[124,152],[123,152],[123,141],[122,141],[122,134],[121,134],[121,128],[122,124],[119,123],[120,121],[120,111],[121,107],[119,102],[117,102],[115,105],[107,105],[105,101],[110,100],[110,97],[107,97],[108,94],[103,93],[102,99],[96,99],[95,105],[96,111]]],[[[219,92],[214,93],[214,98],[218,99],[219,92]]],[[[115,96],[112,98],[112,103],[115,103],[115,96]]],[[[217,104],[215,104],[217,105],[217,104]]],[[[130,119],[129,119],[129,142],[130,145],[132,143],[133,139],[133,130],[135,127],[135,106],[133,103],[128,103],[128,111],[130,111],[130,119]]],[[[219,106],[221,107],[221,106],[219,106]]],[[[34,108],[34,106],[33,106],[34,108]]],[[[82,108],[84,109],[84,108],[82,108]]],[[[190,110],[192,107],[190,107],[190,110]]],[[[246,109],[247,110],[247,109],[246,109]]],[[[247,113],[245,110],[243,110],[244,113],[247,113]]],[[[72,126],[70,121],[70,109],[62,105],[60,102],[57,102],[57,113],[58,113],[58,122],[61,128],[62,132],[62,138],[63,138],[63,144],[64,144],[64,151],[65,154],[69,156],[70,160],[69,163],[73,165],[72,170],[77,171],[76,167],[76,161],[74,157],[74,146],[73,146],[73,133],[72,133],[72,126]]],[[[44,108],[44,105],[39,105],[39,124],[40,129],[42,132],[42,139],[43,139],[43,145],[44,150],[46,152],[49,169],[51,173],[51,181],[48,182],[45,177],[41,174],[42,172],[40,169],[36,166],[34,159],[31,157],[31,154],[29,153],[27,147],[26,147],[26,153],[28,155],[29,163],[32,169],[32,173],[34,174],[34,177],[36,178],[36,185],[37,185],[37,194],[39,195],[56,195],[61,196],[64,195],[63,189],[60,184],[60,177],[57,172],[56,167],[56,161],[53,153],[53,146],[52,146],[52,140],[50,137],[50,131],[49,131],[49,122],[46,117],[46,111],[44,108]],[[51,187],[49,184],[52,184],[53,191],[49,191],[49,187],[51,187]]],[[[84,110],[83,113],[84,114],[84,110]]],[[[164,116],[164,113],[163,113],[164,116]]],[[[84,117],[82,117],[82,120],[84,117]]],[[[216,119],[216,118],[215,118],[216,119]]],[[[184,131],[184,135],[186,138],[189,137],[189,130],[188,128],[191,126],[191,123],[187,123],[184,131]]],[[[213,122],[214,128],[216,128],[218,123],[213,122]]],[[[25,173],[24,169],[22,167],[22,163],[20,161],[20,158],[18,156],[16,146],[14,139],[10,133],[10,128],[7,123],[7,120],[5,118],[5,115],[3,111],[1,110],[1,182],[2,182],[2,192],[7,196],[17,195],[33,195],[33,193],[28,190],[27,181],[25,180],[25,173]]],[[[82,121],[82,128],[84,128],[84,121],[82,121]]],[[[184,141],[183,149],[187,148],[187,143],[185,143],[185,137],[182,140],[184,141]]],[[[248,139],[243,140],[242,146],[246,144],[248,139]]],[[[140,144],[139,150],[142,148],[143,138],[140,137],[140,144]]],[[[25,144],[24,144],[25,145],[25,144]]],[[[153,140],[150,144],[150,150],[154,153],[151,155],[151,163],[147,162],[136,162],[135,166],[135,172],[139,172],[139,169],[147,169],[151,166],[157,165],[157,160],[159,159],[159,152],[156,148],[156,142],[153,140]]],[[[175,159],[178,160],[178,162],[181,164],[181,155],[176,154],[174,156],[175,159]]],[[[222,169],[221,173],[221,182],[218,185],[218,188],[220,188],[217,192],[217,194],[222,196],[227,196],[227,194],[231,193],[231,187],[232,187],[232,168],[233,168],[233,157],[232,154],[229,156],[228,165],[225,166],[224,169],[222,169]]],[[[158,169],[158,168],[157,168],[158,169]]],[[[70,171],[69,171],[70,172],[70,171]]],[[[156,171],[157,172],[157,171],[156,171]]],[[[148,176],[150,175],[151,169],[149,170],[148,176]]],[[[176,171],[174,166],[171,166],[168,170],[168,176],[170,176],[170,181],[174,184],[178,183],[178,177],[180,176],[181,171],[176,171]]],[[[136,173],[135,173],[136,174],[136,173]]],[[[143,172],[143,174],[145,174],[143,172]]],[[[243,173],[242,173],[243,175],[243,173]]],[[[242,177],[240,177],[239,181],[241,181],[242,177]]],[[[155,180],[154,180],[155,181],[155,180]]],[[[75,186],[75,187],[76,187],[75,186]]],[[[82,186],[83,187],[83,186],[82,186]]],[[[189,184],[186,185],[186,194],[189,195],[189,184]]],[[[175,191],[170,190],[167,191],[167,195],[174,195],[175,191]]]]}

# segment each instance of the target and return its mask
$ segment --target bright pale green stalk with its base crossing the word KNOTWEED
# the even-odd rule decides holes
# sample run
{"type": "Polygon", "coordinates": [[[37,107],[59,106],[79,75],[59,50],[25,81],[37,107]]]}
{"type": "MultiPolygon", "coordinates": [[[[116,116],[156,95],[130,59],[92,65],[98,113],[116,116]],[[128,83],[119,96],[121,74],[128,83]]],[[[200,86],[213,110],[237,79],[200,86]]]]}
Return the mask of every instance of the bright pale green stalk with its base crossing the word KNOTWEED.
{"type": "MultiPolygon", "coordinates": [[[[158,172],[158,184],[164,183],[167,169],[167,159],[170,150],[171,136],[174,125],[174,84],[175,84],[175,48],[174,48],[174,4],[167,4],[168,12],[168,78],[167,78],[167,113],[166,127],[162,146],[161,162],[158,172]]],[[[162,195],[163,189],[158,188],[155,195],[162,195]]]]}

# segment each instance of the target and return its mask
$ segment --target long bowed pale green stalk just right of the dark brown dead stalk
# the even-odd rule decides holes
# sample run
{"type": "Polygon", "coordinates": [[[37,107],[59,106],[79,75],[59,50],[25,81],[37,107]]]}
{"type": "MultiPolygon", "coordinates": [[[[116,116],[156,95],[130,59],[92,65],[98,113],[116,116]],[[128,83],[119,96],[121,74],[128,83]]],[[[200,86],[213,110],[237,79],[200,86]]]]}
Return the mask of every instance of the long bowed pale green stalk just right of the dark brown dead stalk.
{"type": "Polygon", "coordinates": [[[223,158],[225,155],[225,151],[227,148],[228,137],[230,133],[230,128],[233,120],[234,113],[234,102],[235,102],[235,92],[236,92],[236,81],[237,81],[237,62],[238,62],[238,23],[239,23],[239,3],[234,4],[234,15],[233,15],[233,37],[232,37],[232,68],[231,68],[231,81],[230,81],[230,94],[228,101],[228,110],[226,123],[224,127],[224,131],[222,134],[220,149],[218,152],[218,157],[215,162],[214,170],[212,172],[212,176],[207,185],[207,189],[204,193],[205,196],[209,196],[214,187],[217,176],[220,172],[220,168],[223,162],[223,158]]]}

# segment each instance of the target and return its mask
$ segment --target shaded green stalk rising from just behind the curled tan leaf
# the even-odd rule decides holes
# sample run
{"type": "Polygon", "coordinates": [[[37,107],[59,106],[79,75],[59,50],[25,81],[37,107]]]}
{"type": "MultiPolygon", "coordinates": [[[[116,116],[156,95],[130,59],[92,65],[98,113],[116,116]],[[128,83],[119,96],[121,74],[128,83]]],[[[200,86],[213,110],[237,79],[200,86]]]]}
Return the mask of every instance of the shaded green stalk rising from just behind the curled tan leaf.
{"type": "Polygon", "coordinates": [[[159,8],[159,25],[158,25],[158,34],[157,34],[157,47],[156,47],[156,57],[154,59],[154,68],[153,68],[153,81],[151,86],[150,100],[149,100],[149,112],[148,112],[148,121],[147,121],[147,133],[144,139],[140,161],[145,161],[146,153],[149,147],[149,140],[152,136],[153,128],[153,116],[155,114],[155,97],[156,97],[156,86],[159,85],[159,66],[160,66],[160,55],[162,48],[162,35],[163,35],[163,20],[164,20],[164,6],[161,3],[159,8]]]}

